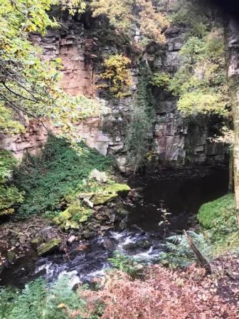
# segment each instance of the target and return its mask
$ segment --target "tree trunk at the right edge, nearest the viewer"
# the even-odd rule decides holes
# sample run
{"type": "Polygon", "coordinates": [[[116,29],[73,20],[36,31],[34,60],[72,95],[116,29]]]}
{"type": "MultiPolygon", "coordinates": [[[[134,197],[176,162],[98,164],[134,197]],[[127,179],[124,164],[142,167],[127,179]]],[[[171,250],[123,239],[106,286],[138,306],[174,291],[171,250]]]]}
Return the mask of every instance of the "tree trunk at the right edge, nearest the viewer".
{"type": "Polygon", "coordinates": [[[225,53],[228,71],[230,103],[234,124],[234,187],[235,206],[239,228],[239,23],[233,18],[225,21],[225,53]]]}

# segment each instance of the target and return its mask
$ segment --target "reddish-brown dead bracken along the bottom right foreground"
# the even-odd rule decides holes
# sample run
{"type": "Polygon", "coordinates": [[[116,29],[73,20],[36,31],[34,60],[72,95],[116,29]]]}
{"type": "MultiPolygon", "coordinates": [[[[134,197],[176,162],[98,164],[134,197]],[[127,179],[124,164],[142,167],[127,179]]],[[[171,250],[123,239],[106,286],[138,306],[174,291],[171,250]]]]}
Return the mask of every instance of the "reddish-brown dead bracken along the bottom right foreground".
{"type": "MultiPolygon", "coordinates": [[[[233,273],[238,274],[238,262],[234,260],[233,273]]],[[[230,263],[228,268],[230,269],[230,263]]],[[[233,276],[234,277],[234,276],[233,276]]],[[[188,271],[171,271],[158,265],[151,266],[144,273],[143,280],[132,281],[127,274],[115,271],[102,280],[102,289],[84,291],[87,300],[105,303],[102,319],[202,319],[237,318],[235,279],[218,278],[221,292],[228,292],[230,281],[230,303],[225,296],[218,295],[215,275],[203,276],[203,270],[191,267],[188,271]],[[235,293],[233,293],[235,291],[235,293]]],[[[224,295],[224,294],[223,294],[224,295]]],[[[88,313],[94,311],[95,304],[88,304],[88,313]]],[[[73,319],[77,317],[73,316],[73,319]]]]}

